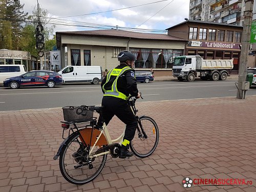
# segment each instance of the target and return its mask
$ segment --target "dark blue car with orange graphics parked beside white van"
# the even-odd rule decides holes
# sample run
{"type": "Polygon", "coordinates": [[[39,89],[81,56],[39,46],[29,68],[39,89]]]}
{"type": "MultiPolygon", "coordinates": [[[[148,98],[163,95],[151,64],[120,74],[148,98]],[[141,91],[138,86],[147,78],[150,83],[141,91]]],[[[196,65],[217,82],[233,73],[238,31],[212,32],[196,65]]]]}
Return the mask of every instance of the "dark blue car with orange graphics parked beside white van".
{"type": "Polygon", "coordinates": [[[18,89],[22,86],[47,86],[54,88],[63,84],[61,75],[53,71],[34,70],[17,77],[4,80],[4,87],[18,89]]]}

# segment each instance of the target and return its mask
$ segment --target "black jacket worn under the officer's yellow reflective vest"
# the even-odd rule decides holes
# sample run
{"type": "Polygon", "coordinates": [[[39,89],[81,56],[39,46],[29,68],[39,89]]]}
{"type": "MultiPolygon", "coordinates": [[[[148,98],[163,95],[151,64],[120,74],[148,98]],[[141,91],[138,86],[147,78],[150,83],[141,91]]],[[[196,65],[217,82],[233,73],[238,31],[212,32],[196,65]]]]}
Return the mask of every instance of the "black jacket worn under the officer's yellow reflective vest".
{"type": "MultiPolygon", "coordinates": [[[[127,67],[124,64],[120,64],[116,67],[116,69],[122,69],[124,67],[127,67]]],[[[113,76],[112,78],[115,78],[113,76]]],[[[104,90],[102,89],[102,86],[106,82],[106,77],[101,82],[101,90],[104,93],[104,90]]],[[[104,86],[104,88],[108,88],[112,86],[113,81],[111,80],[104,86]]],[[[138,95],[138,89],[137,89],[137,83],[135,79],[135,70],[133,68],[126,70],[118,79],[117,79],[117,90],[126,96],[129,96],[131,94],[132,96],[138,95]]]]}

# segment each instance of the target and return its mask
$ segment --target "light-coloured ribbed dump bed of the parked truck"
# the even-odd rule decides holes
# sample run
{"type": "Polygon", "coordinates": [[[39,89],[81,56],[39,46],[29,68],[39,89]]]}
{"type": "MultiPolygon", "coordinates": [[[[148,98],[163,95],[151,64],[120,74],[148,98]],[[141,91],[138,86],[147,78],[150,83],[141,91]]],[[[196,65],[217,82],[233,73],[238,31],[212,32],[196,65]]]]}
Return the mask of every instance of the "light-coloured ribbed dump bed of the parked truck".
{"type": "Polygon", "coordinates": [[[233,69],[233,59],[202,59],[197,57],[196,60],[197,70],[233,69]]]}

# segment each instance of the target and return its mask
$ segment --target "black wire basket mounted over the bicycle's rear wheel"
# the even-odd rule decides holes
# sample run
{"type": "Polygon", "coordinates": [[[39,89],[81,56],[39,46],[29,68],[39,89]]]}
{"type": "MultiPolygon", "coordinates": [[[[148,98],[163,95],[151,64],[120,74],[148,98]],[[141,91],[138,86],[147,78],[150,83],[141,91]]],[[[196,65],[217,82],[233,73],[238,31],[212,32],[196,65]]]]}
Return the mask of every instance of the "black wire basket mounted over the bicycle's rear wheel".
{"type": "Polygon", "coordinates": [[[65,121],[85,122],[93,120],[94,106],[64,106],[62,110],[65,121]]]}

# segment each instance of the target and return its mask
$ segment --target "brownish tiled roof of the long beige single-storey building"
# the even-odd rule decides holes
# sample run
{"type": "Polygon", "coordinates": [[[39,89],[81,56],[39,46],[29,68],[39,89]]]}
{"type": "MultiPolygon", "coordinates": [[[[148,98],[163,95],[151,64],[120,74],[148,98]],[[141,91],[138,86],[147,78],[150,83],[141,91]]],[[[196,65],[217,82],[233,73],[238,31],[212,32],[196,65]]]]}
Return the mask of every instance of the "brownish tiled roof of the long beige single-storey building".
{"type": "Polygon", "coordinates": [[[67,35],[84,35],[84,36],[97,36],[97,37],[117,37],[117,38],[132,38],[132,39],[152,39],[152,40],[178,40],[187,41],[186,39],[155,33],[138,33],[123,30],[94,30],[94,31],[66,31],[57,32],[56,34],[67,34],[67,35]]]}

